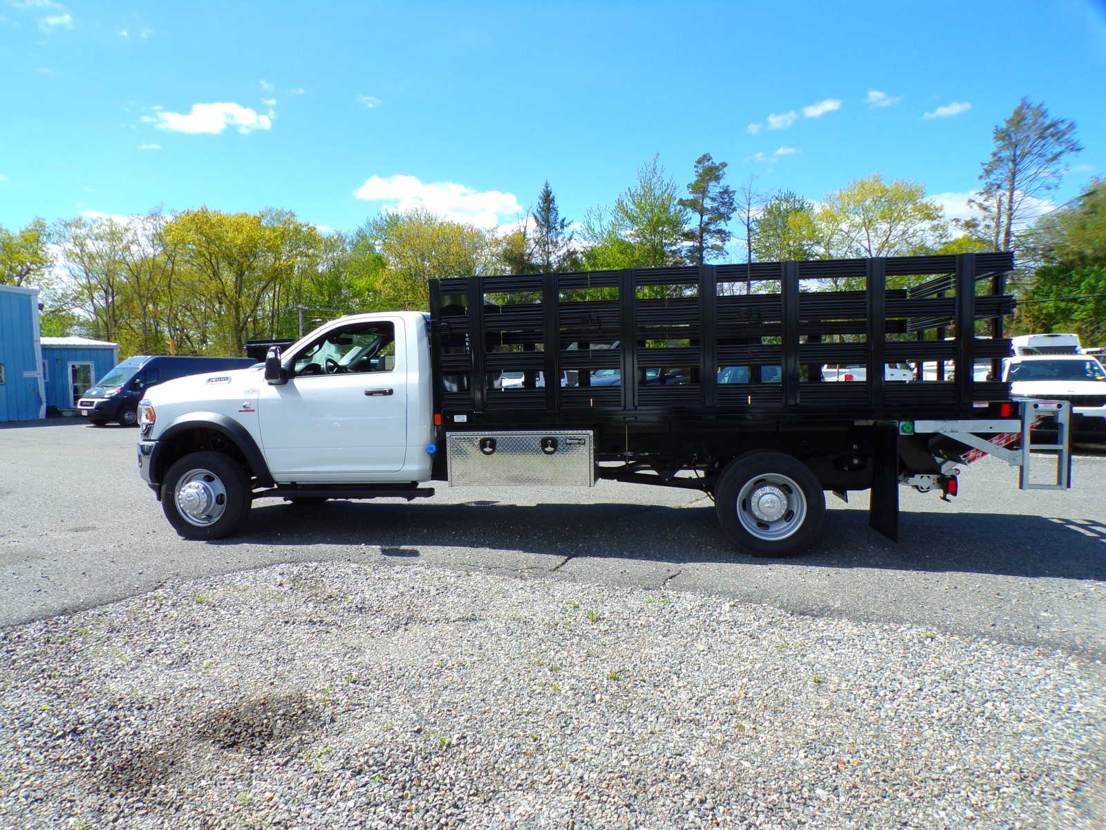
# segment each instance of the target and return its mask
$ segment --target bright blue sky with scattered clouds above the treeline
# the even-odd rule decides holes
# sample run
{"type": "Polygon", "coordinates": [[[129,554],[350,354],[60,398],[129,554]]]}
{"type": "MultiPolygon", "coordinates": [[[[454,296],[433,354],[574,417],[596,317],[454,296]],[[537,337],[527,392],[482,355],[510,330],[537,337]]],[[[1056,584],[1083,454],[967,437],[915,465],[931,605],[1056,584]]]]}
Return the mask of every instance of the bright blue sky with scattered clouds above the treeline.
{"type": "Polygon", "coordinates": [[[1023,95],[1085,146],[1056,201],[1106,175],[1103,0],[0,2],[9,228],[418,200],[491,225],[546,179],[578,220],[703,152],[762,191],[880,173],[954,209],[1023,95]]]}

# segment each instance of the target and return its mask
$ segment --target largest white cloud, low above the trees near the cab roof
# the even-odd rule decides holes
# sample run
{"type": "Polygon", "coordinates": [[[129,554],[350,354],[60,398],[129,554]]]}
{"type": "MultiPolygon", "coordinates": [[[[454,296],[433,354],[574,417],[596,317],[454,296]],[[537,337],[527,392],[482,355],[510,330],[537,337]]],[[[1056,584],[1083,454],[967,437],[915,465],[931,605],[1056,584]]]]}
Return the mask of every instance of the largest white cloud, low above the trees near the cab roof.
{"type": "Polygon", "coordinates": [[[523,212],[514,194],[473,190],[453,181],[422,184],[415,176],[372,176],[353,195],[366,201],[389,203],[386,210],[425,207],[447,219],[481,228],[494,228],[501,224],[501,217],[523,212]]]}

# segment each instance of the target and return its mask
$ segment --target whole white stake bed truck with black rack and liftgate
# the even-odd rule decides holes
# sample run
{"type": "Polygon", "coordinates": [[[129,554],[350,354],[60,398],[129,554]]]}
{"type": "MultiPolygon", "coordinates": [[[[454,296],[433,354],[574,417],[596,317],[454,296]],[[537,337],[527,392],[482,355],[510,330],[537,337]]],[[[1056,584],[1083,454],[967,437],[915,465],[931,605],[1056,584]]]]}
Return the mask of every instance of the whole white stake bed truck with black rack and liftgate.
{"type": "MultiPolygon", "coordinates": [[[[954,496],[982,453],[1036,486],[1029,449],[1004,444],[1045,413],[1067,423],[1066,404],[1014,401],[1001,380],[883,371],[984,360],[999,377],[1011,267],[992,253],[434,280],[429,314],[342,318],[263,367],[154,387],[138,465],[190,539],[232,533],[254,498],[599,478],[703,490],[754,554],[807,547],[826,490],[869,490],[869,523],[897,538],[899,486],[954,496]],[[889,289],[887,274],[915,284],[889,289]],[[830,278],[867,288],[826,290],[830,278]],[[992,339],[973,336],[983,322],[992,339]],[[967,334],[925,336],[949,329],[967,334]],[[825,365],[864,380],[826,382],[825,365]]],[[[1048,487],[1068,486],[1061,433],[1048,487]]]]}

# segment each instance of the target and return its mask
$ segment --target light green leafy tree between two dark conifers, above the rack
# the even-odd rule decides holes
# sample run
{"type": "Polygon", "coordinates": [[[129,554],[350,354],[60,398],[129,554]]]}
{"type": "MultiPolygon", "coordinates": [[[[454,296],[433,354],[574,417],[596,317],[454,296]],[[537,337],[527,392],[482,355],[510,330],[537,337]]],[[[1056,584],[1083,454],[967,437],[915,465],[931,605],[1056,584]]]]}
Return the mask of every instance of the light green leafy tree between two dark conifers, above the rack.
{"type": "Polygon", "coordinates": [[[679,186],[665,175],[660,156],[638,168],[637,181],[609,211],[593,208],[583,224],[587,268],[660,268],[685,263],[688,212],[679,186]]]}

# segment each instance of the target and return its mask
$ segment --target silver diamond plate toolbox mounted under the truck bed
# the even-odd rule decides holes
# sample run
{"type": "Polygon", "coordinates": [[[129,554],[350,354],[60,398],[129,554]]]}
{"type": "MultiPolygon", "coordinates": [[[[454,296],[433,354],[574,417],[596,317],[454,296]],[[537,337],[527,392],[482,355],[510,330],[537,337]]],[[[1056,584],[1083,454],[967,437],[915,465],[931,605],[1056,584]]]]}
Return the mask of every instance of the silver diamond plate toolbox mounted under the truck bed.
{"type": "Polygon", "coordinates": [[[589,430],[447,433],[453,487],[592,487],[595,449],[589,430]]]}

